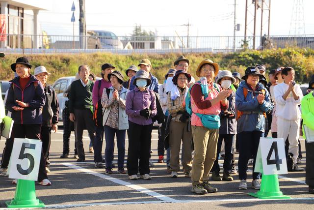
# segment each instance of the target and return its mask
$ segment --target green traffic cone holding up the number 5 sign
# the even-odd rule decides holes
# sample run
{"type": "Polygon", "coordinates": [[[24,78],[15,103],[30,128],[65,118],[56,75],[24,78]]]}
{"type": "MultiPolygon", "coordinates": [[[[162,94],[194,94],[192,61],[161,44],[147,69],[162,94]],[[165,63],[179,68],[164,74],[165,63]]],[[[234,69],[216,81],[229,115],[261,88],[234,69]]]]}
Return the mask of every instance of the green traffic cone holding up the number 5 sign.
{"type": "Polygon", "coordinates": [[[35,181],[18,180],[14,199],[5,202],[8,208],[45,207],[45,204],[36,198],[35,181]]]}

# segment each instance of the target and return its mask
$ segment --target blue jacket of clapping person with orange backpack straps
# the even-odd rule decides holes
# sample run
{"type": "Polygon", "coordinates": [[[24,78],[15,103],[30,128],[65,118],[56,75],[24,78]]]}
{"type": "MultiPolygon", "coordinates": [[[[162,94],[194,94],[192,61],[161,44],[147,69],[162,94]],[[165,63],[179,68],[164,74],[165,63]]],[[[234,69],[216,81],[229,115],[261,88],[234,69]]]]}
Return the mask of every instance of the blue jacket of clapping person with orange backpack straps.
{"type": "Polygon", "coordinates": [[[265,90],[265,100],[262,104],[259,104],[256,96],[257,94],[248,91],[246,98],[244,98],[243,88],[252,90],[246,83],[242,81],[235,92],[235,107],[238,111],[252,111],[254,114],[243,114],[237,120],[237,133],[243,131],[265,131],[265,117],[263,112],[269,113],[273,108],[273,103],[270,100],[269,92],[265,87],[258,83],[256,91],[265,90]]]}

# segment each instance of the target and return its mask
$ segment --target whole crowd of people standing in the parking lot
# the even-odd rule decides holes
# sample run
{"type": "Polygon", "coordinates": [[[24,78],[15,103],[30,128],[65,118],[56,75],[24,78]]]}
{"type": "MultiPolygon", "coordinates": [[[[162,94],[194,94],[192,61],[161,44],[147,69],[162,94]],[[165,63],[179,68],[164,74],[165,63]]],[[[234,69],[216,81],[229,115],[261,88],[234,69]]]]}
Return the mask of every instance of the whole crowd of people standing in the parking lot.
{"type": "MultiPolygon", "coordinates": [[[[77,162],[85,161],[82,135],[87,129],[95,167],[105,167],[105,174],[114,173],[116,144],[117,172],[128,174],[130,180],[151,180],[152,130],[157,125],[157,162],[166,162],[165,173],[177,178],[181,159],[183,176],[191,179],[191,191],[196,194],[217,192],[210,180],[234,180],[235,152],[239,153],[238,188],[247,189],[247,168],[253,162],[251,187],[260,189],[262,175],[255,173],[254,167],[260,138],[267,137],[269,131],[273,138],[286,141],[286,155],[294,162],[289,171],[304,170],[297,165],[302,158],[299,135],[302,119],[303,125],[314,130],[314,75],[304,97],[294,81],[292,67],[269,70],[267,83],[264,64],[248,66],[241,77],[238,72],[221,70],[218,63],[205,59],[195,72],[199,80],[189,73],[190,60],[184,56],[173,64],[160,85],[148,59],[125,71],[127,81],[110,63],[102,65],[102,79],[97,81],[88,65],[80,65],[76,79],[64,92],[69,100],[63,110],[60,158],[69,157],[69,139],[74,131],[74,158],[77,162]],[[126,133],[129,147],[125,168],[126,133]],[[218,159],[222,156],[221,177],[218,159]]],[[[11,65],[16,77],[10,81],[5,106],[14,125],[2,153],[1,175],[7,176],[14,138],[38,139],[43,142],[38,183],[51,185],[47,176],[49,150],[51,132],[58,129],[59,106],[55,91],[47,84],[50,73],[45,66],[36,67],[34,74],[31,67],[24,57],[11,65]]],[[[310,193],[314,193],[313,151],[314,143],[307,142],[306,182],[310,193]]]]}

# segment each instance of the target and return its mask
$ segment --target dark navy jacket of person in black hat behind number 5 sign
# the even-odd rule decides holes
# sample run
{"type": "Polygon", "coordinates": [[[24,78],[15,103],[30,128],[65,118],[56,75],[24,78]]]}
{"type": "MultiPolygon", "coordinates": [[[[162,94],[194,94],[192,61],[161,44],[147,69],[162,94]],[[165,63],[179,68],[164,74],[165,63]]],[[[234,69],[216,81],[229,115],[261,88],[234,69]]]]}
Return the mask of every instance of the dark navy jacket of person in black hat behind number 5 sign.
{"type": "Polygon", "coordinates": [[[45,105],[46,96],[43,85],[30,75],[24,90],[20,87],[20,77],[11,80],[5,106],[12,113],[11,118],[16,124],[42,124],[42,107],[45,105]],[[14,85],[13,85],[14,84],[14,85]],[[15,100],[28,103],[29,107],[22,111],[15,111],[13,106],[19,106],[15,100]]]}

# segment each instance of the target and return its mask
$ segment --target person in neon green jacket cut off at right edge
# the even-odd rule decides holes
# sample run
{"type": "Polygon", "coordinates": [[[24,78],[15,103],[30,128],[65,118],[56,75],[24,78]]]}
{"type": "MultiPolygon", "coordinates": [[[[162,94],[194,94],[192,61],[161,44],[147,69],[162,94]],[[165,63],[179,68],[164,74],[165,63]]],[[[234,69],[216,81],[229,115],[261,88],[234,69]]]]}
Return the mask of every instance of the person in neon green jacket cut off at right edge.
{"type": "MultiPolygon", "coordinates": [[[[310,82],[309,87],[314,88],[314,81],[310,82]]],[[[301,100],[301,110],[303,124],[309,129],[314,130],[314,91],[312,90],[301,100]]],[[[306,139],[306,136],[303,136],[306,139]]],[[[305,181],[309,185],[309,193],[314,194],[314,143],[305,143],[306,166],[305,181]]]]}

